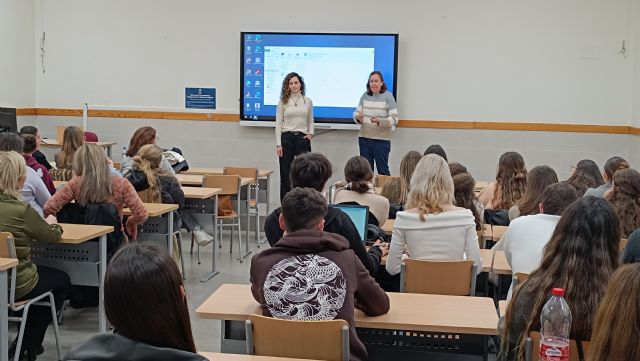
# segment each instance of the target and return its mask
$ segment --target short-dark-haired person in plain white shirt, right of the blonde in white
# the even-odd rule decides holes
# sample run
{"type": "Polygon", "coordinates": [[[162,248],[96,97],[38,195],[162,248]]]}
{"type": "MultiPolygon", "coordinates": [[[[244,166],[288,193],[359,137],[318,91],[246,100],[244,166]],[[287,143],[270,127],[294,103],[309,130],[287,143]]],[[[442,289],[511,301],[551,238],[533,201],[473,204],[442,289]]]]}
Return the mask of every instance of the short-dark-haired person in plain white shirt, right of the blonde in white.
{"type": "MultiPolygon", "coordinates": [[[[578,199],[578,193],[568,183],[554,183],[542,193],[540,213],[518,217],[493,246],[504,251],[513,274],[531,273],[542,260],[542,251],[551,239],[562,212],[578,199]]],[[[513,285],[507,299],[511,299],[513,285]]]]}

